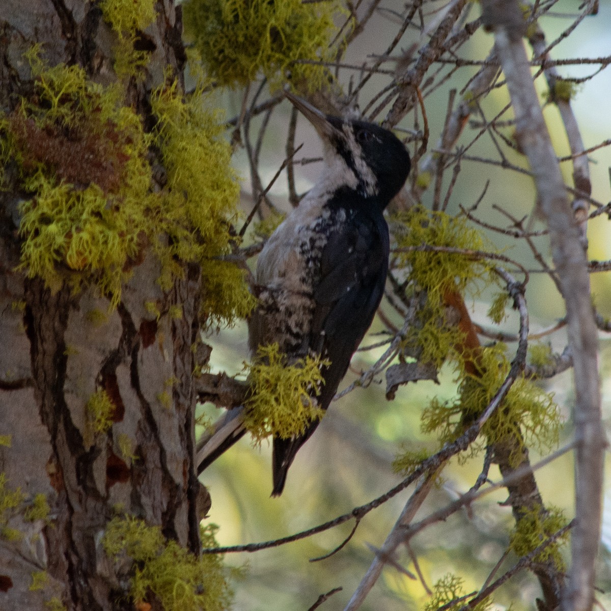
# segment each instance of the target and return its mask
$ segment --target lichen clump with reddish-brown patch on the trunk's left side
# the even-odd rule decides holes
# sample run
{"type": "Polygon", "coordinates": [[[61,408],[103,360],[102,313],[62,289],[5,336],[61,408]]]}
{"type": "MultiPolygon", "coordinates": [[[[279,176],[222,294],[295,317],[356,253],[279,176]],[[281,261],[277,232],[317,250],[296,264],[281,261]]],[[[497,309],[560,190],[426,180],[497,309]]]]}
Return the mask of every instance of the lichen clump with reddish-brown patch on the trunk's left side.
{"type": "Polygon", "coordinates": [[[148,221],[149,137],[119,86],[76,65],[46,67],[32,51],[35,97],[0,120],[3,159],[18,166],[21,269],[57,290],[91,282],[117,304],[148,221]],[[87,163],[82,163],[87,159],[87,163]]]}

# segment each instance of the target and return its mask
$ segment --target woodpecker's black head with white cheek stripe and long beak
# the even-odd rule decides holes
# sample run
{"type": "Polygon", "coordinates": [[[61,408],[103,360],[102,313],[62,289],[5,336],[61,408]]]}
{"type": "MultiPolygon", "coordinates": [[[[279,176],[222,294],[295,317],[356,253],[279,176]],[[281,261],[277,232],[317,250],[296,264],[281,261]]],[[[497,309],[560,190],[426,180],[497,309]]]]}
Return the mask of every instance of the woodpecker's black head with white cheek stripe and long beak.
{"type": "Polygon", "coordinates": [[[323,140],[325,165],[334,173],[337,186],[353,188],[386,208],[411,167],[403,142],[379,125],[326,115],[293,93],[286,95],[323,140]]]}

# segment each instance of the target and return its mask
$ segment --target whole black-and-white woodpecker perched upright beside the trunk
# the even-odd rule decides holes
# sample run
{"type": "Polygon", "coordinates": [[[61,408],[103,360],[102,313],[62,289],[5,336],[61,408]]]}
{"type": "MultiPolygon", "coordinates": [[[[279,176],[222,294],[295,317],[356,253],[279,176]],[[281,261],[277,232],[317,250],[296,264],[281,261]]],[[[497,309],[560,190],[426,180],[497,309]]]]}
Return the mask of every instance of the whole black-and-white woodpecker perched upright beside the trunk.
{"type": "MultiPolygon", "coordinates": [[[[390,131],[287,97],[321,137],[324,170],[259,255],[260,304],[249,343],[255,352],[277,342],[289,363],[308,355],[328,360],[316,397],[327,409],[384,293],[389,232],[382,213],[406,181],[410,159],[390,131]]],[[[316,426],[274,439],[272,496],[282,493],[288,467],[316,426]]]]}

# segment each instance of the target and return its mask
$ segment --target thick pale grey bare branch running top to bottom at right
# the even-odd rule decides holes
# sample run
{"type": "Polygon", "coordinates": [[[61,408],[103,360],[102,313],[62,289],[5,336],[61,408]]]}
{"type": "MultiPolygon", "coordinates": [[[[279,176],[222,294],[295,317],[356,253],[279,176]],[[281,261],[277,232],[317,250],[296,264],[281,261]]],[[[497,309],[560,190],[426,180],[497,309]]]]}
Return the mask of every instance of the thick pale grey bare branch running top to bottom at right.
{"type": "MultiPolygon", "coordinates": [[[[489,0],[483,5],[491,9],[489,0]]],[[[511,8],[519,13],[517,2],[511,2],[511,8]]],[[[566,304],[576,386],[577,517],[571,538],[571,579],[562,598],[562,609],[589,611],[594,599],[606,441],[601,423],[596,323],[590,301],[587,258],[533,87],[521,35],[506,23],[492,20],[488,26],[494,31],[497,55],[507,79],[518,141],[529,159],[540,211],[549,226],[552,256],[566,304]]]]}

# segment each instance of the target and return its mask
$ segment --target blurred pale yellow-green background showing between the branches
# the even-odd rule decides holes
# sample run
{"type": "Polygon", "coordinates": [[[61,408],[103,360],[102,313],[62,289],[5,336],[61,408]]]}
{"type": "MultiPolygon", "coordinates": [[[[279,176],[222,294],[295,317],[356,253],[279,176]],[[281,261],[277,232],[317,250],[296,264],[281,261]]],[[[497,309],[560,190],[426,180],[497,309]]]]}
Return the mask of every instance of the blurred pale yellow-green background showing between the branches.
{"type": "MultiPolygon", "coordinates": [[[[397,11],[403,9],[401,2],[386,0],[382,7],[397,11]]],[[[558,2],[554,13],[575,12],[576,1],[558,2]]],[[[477,5],[473,5],[470,19],[478,15],[477,5]]],[[[548,16],[541,20],[548,42],[554,40],[565,29],[571,20],[562,16],[548,16]]],[[[552,51],[553,57],[601,57],[611,55],[611,2],[600,3],[598,16],[586,18],[576,31],[563,40],[552,51]]],[[[383,53],[392,40],[397,26],[382,15],[375,15],[367,26],[365,34],[349,49],[346,61],[360,64],[371,54],[383,53]]],[[[401,45],[408,47],[417,40],[417,33],[409,31],[404,35],[401,45]]],[[[481,30],[461,49],[463,57],[485,59],[492,45],[492,37],[481,30]]],[[[446,71],[449,71],[447,68],[446,71]]],[[[560,67],[563,76],[584,77],[596,70],[595,66],[560,67]]],[[[442,87],[426,98],[426,112],[430,124],[430,147],[433,147],[444,125],[447,108],[448,90],[462,89],[469,77],[475,73],[474,68],[461,68],[456,71],[442,87]]],[[[347,83],[348,71],[340,73],[340,79],[347,83]]],[[[381,76],[374,76],[360,98],[364,108],[368,99],[387,81],[381,76]]],[[[538,92],[543,100],[547,86],[540,78],[536,81],[538,92]]],[[[573,107],[577,115],[586,147],[611,137],[611,112],[609,112],[609,95],[611,92],[611,72],[603,71],[591,81],[579,87],[579,93],[573,107]]],[[[232,117],[240,112],[243,92],[225,92],[221,95],[222,104],[227,109],[227,116],[232,117]]],[[[489,119],[508,102],[506,89],[496,89],[482,104],[483,111],[489,119]]],[[[290,106],[283,103],[273,115],[262,149],[263,185],[276,172],[284,160],[285,137],[288,125],[290,106]]],[[[569,148],[560,122],[557,109],[546,106],[544,111],[558,155],[568,155],[569,148]]],[[[381,118],[381,117],[379,117],[381,118]]],[[[476,117],[477,119],[477,117],[476,117]]],[[[401,124],[411,128],[412,118],[407,117],[401,124]]],[[[252,122],[252,133],[257,133],[260,119],[252,122]]],[[[470,142],[476,128],[467,126],[459,144],[470,142]]],[[[320,154],[320,147],[313,130],[304,119],[298,120],[296,144],[305,142],[299,153],[305,157],[320,154]]],[[[498,159],[499,156],[489,137],[482,137],[471,149],[471,155],[498,159]]],[[[525,167],[525,159],[509,150],[507,156],[512,163],[525,167]]],[[[609,185],[609,167],[611,151],[601,148],[590,155],[591,180],[593,197],[601,202],[611,199],[609,185]]],[[[244,179],[244,206],[249,205],[251,186],[248,178],[246,154],[238,150],[235,164],[244,179]]],[[[565,180],[571,181],[571,164],[562,164],[565,180]]],[[[303,192],[316,180],[320,164],[297,166],[298,192],[303,192]]],[[[448,179],[451,172],[447,173],[448,179]]],[[[514,216],[522,218],[532,212],[534,191],[532,181],[523,175],[500,169],[488,164],[463,161],[456,187],[448,211],[456,213],[461,204],[472,205],[483,191],[486,181],[490,187],[486,197],[478,208],[478,216],[487,222],[507,226],[507,219],[492,209],[496,204],[510,210],[514,216]]],[[[447,185],[446,185],[447,186],[447,185]]],[[[444,187],[445,192],[445,187],[444,187]]],[[[284,175],[280,177],[271,190],[271,198],[277,207],[287,210],[287,188],[284,175]]],[[[430,206],[431,194],[426,192],[423,203],[430,206]]],[[[536,221],[535,229],[542,225],[536,221]]],[[[510,238],[498,233],[488,233],[488,239],[497,249],[523,265],[533,268],[536,263],[524,244],[516,244],[510,238]]],[[[588,226],[591,259],[611,258],[611,235],[609,220],[599,217],[588,226]]],[[[547,238],[538,238],[547,260],[551,260],[547,248],[547,238]]],[[[591,278],[595,302],[599,312],[611,315],[611,277],[609,274],[594,274],[591,278]]],[[[491,326],[486,321],[486,300],[489,295],[475,295],[468,305],[473,306],[474,320],[483,326],[491,326]]],[[[543,274],[533,274],[528,288],[527,301],[530,312],[532,332],[545,329],[563,316],[562,299],[557,294],[551,280],[543,274]]],[[[389,310],[387,308],[387,310],[389,310]]],[[[363,345],[379,341],[376,332],[380,330],[375,323],[363,345]]],[[[509,312],[502,329],[516,332],[518,318],[509,312]]],[[[239,374],[244,360],[249,358],[247,351],[246,324],[238,324],[233,329],[225,329],[219,334],[207,337],[206,341],[214,349],[211,357],[213,372],[225,371],[229,375],[239,374]]],[[[545,340],[551,342],[552,348],[562,351],[566,343],[566,334],[559,331],[545,340]]],[[[601,334],[601,371],[604,418],[609,420],[611,409],[611,382],[609,371],[611,365],[611,343],[606,335],[601,334]]],[[[509,345],[508,351],[514,346],[509,345]]],[[[343,382],[345,387],[352,382],[356,373],[365,370],[375,362],[381,349],[358,353],[352,364],[352,370],[343,382]]],[[[571,438],[571,408],[573,406],[572,371],[568,371],[544,387],[555,393],[558,409],[566,421],[563,442],[571,438]]],[[[353,507],[362,505],[396,485],[400,478],[393,474],[391,463],[401,447],[411,449],[427,448],[434,451],[436,441],[420,433],[420,414],[432,397],[442,400],[455,393],[452,370],[444,368],[440,377],[441,384],[419,382],[408,387],[401,387],[394,401],[384,398],[384,381],[376,380],[368,389],[356,389],[332,404],[329,413],[324,417],[316,434],[299,452],[288,475],[285,492],[279,499],[271,499],[271,464],[270,447],[264,443],[261,448],[254,448],[245,437],[229,452],[225,453],[213,466],[202,475],[202,481],[210,489],[212,508],[210,519],[220,526],[218,540],[224,545],[243,544],[271,540],[287,536],[299,530],[307,529],[320,522],[327,521],[353,507]]],[[[340,387],[340,388],[342,388],[340,387]]],[[[202,411],[217,417],[213,406],[203,406],[202,411]]],[[[532,463],[539,457],[531,455],[532,463]]],[[[459,466],[454,460],[444,470],[444,481],[434,489],[419,511],[422,518],[431,511],[443,507],[455,499],[457,494],[466,492],[474,483],[481,470],[483,456],[459,466]]],[[[491,478],[500,478],[497,467],[491,469],[491,478]]],[[[551,465],[544,467],[536,474],[544,500],[547,504],[556,505],[566,510],[568,516],[573,511],[573,463],[570,455],[564,455],[551,465]]],[[[611,482],[608,482],[611,490],[611,482]]],[[[354,589],[364,576],[373,558],[368,544],[379,547],[392,528],[401,508],[409,497],[411,489],[369,513],[360,523],[353,539],[342,551],[327,560],[311,563],[310,558],[318,557],[331,551],[348,535],[352,522],[336,529],[329,530],[307,540],[275,547],[254,554],[227,555],[228,563],[236,566],[246,565],[247,571],[240,582],[235,583],[235,609],[244,611],[258,610],[306,610],[321,593],[335,587],[343,591],[332,596],[324,603],[322,609],[343,609],[354,589]]],[[[611,503],[611,492],[610,503],[611,503]]],[[[513,527],[510,508],[502,504],[507,494],[498,492],[475,503],[470,513],[463,510],[447,522],[435,524],[424,530],[412,540],[412,549],[420,563],[426,581],[432,585],[446,573],[452,572],[465,580],[465,592],[477,590],[486,580],[488,574],[502,557],[507,548],[509,533],[513,527]]],[[[606,513],[604,535],[611,546],[611,505],[606,513]]],[[[568,557],[568,556],[567,556],[568,557]]],[[[602,546],[599,586],[603,590],[611,587],[609,570],[609,553],[602,546]]],[[[408,554],[401,551],[398,562],[413,569],[408,554]]],[[[516,558],[511,555],[505,560],[500,570],[510,568],[516,558]]],[[[497,574],[500,576],[500,573],[497,574]]],[[[533,608],[533,599],[538,591],[538,584],[527,572],[514,577],[494,596],[498,609],[505,609],[513,604],[514,610],[533,608]]],[[[425,591],[419,581],[410,580],[397,570],[387,567],[381,579],[371,591],[362,609],[367,610],[403,610],[421,609],[426,599],[425,591]]],[[[599,596],[602,604],[611,604],[611,597],[604,593],[599,596]]]]}

